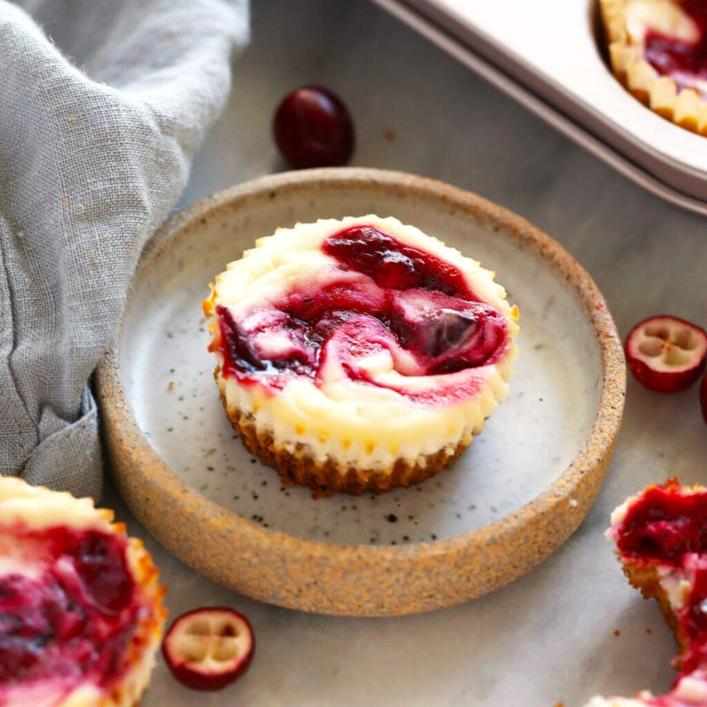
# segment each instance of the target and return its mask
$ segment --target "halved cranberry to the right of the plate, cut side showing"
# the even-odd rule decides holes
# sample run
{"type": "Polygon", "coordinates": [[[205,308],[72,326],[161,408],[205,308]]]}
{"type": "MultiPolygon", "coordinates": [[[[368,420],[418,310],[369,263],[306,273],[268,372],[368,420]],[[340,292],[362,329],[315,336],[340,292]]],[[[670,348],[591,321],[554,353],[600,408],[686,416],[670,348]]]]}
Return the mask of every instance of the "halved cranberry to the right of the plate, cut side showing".
{"type": "Polygon", "coordinates": [[[626,337],[626,363],[650,390],[672,393],[690,387],[707,356],[707,332],[678,317],[650,317],[626,337]]]}

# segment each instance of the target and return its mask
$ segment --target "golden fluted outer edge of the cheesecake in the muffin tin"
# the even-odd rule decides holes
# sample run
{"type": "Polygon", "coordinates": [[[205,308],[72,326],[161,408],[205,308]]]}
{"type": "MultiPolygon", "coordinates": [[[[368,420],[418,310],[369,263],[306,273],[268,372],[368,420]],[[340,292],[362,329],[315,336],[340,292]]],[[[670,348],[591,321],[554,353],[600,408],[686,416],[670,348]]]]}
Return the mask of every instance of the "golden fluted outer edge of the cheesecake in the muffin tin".
{"type": "Polygon", "coordinates": [[[707,102],[693,88],[678,93],[670,76],[660,76],[631,45],[626,32],[628,0],[600,0],[612,71],[626,90],[660,115],[690,132],[707,136],[707,102]]]}

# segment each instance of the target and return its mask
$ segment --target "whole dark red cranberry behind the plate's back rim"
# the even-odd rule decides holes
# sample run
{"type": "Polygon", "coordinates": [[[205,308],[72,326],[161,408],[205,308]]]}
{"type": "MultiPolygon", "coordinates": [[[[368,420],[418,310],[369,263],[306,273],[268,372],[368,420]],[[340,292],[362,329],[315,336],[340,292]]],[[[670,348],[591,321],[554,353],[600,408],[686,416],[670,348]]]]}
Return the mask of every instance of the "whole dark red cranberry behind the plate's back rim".
{"type": "Polygon", "coordinates": [[[272,123],[275,142],[293,168],[344,165],[354,151],[354,123],[341,99],[321,86],[283,98],[272,123]]]}

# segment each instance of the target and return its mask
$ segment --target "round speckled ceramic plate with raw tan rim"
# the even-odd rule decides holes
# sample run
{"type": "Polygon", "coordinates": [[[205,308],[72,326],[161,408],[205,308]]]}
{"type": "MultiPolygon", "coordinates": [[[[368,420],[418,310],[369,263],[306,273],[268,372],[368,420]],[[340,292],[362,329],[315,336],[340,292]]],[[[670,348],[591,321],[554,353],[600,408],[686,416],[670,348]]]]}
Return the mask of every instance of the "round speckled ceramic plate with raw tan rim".
{"type": "Polygon", "coordinates": [[[98,371],[115,481],[149,532],[247,595],[356,615],[478,597],[564,542],[607,471],[625,382],[606,303],[559,244],[460,189],[363,169],[264,177],[178,214],[148,246],[98,371]],[[520,354],[506,402],[438,477],[313,500],[234,438],[200,303],[226,262],[276,226],[368,213],[496,270],[520,308],[520,354]]]}

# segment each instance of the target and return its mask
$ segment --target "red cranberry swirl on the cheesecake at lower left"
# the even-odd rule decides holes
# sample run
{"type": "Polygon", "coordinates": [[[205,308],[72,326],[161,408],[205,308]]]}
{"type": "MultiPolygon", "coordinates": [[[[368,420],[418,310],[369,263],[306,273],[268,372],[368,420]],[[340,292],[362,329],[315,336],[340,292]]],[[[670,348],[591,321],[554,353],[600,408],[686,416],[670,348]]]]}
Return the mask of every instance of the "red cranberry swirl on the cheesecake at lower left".
{"type": "MultiPolygon", "coordinates": [[[[18,544],[42,542],[37,577],[0,575],[0,704],[19,684],[115,681],[140,605],[126,564],[127,539],[95,530],[11,530],[18,544]]],[[[61,687],[59,687],[59,684],[61,687]]]]}

